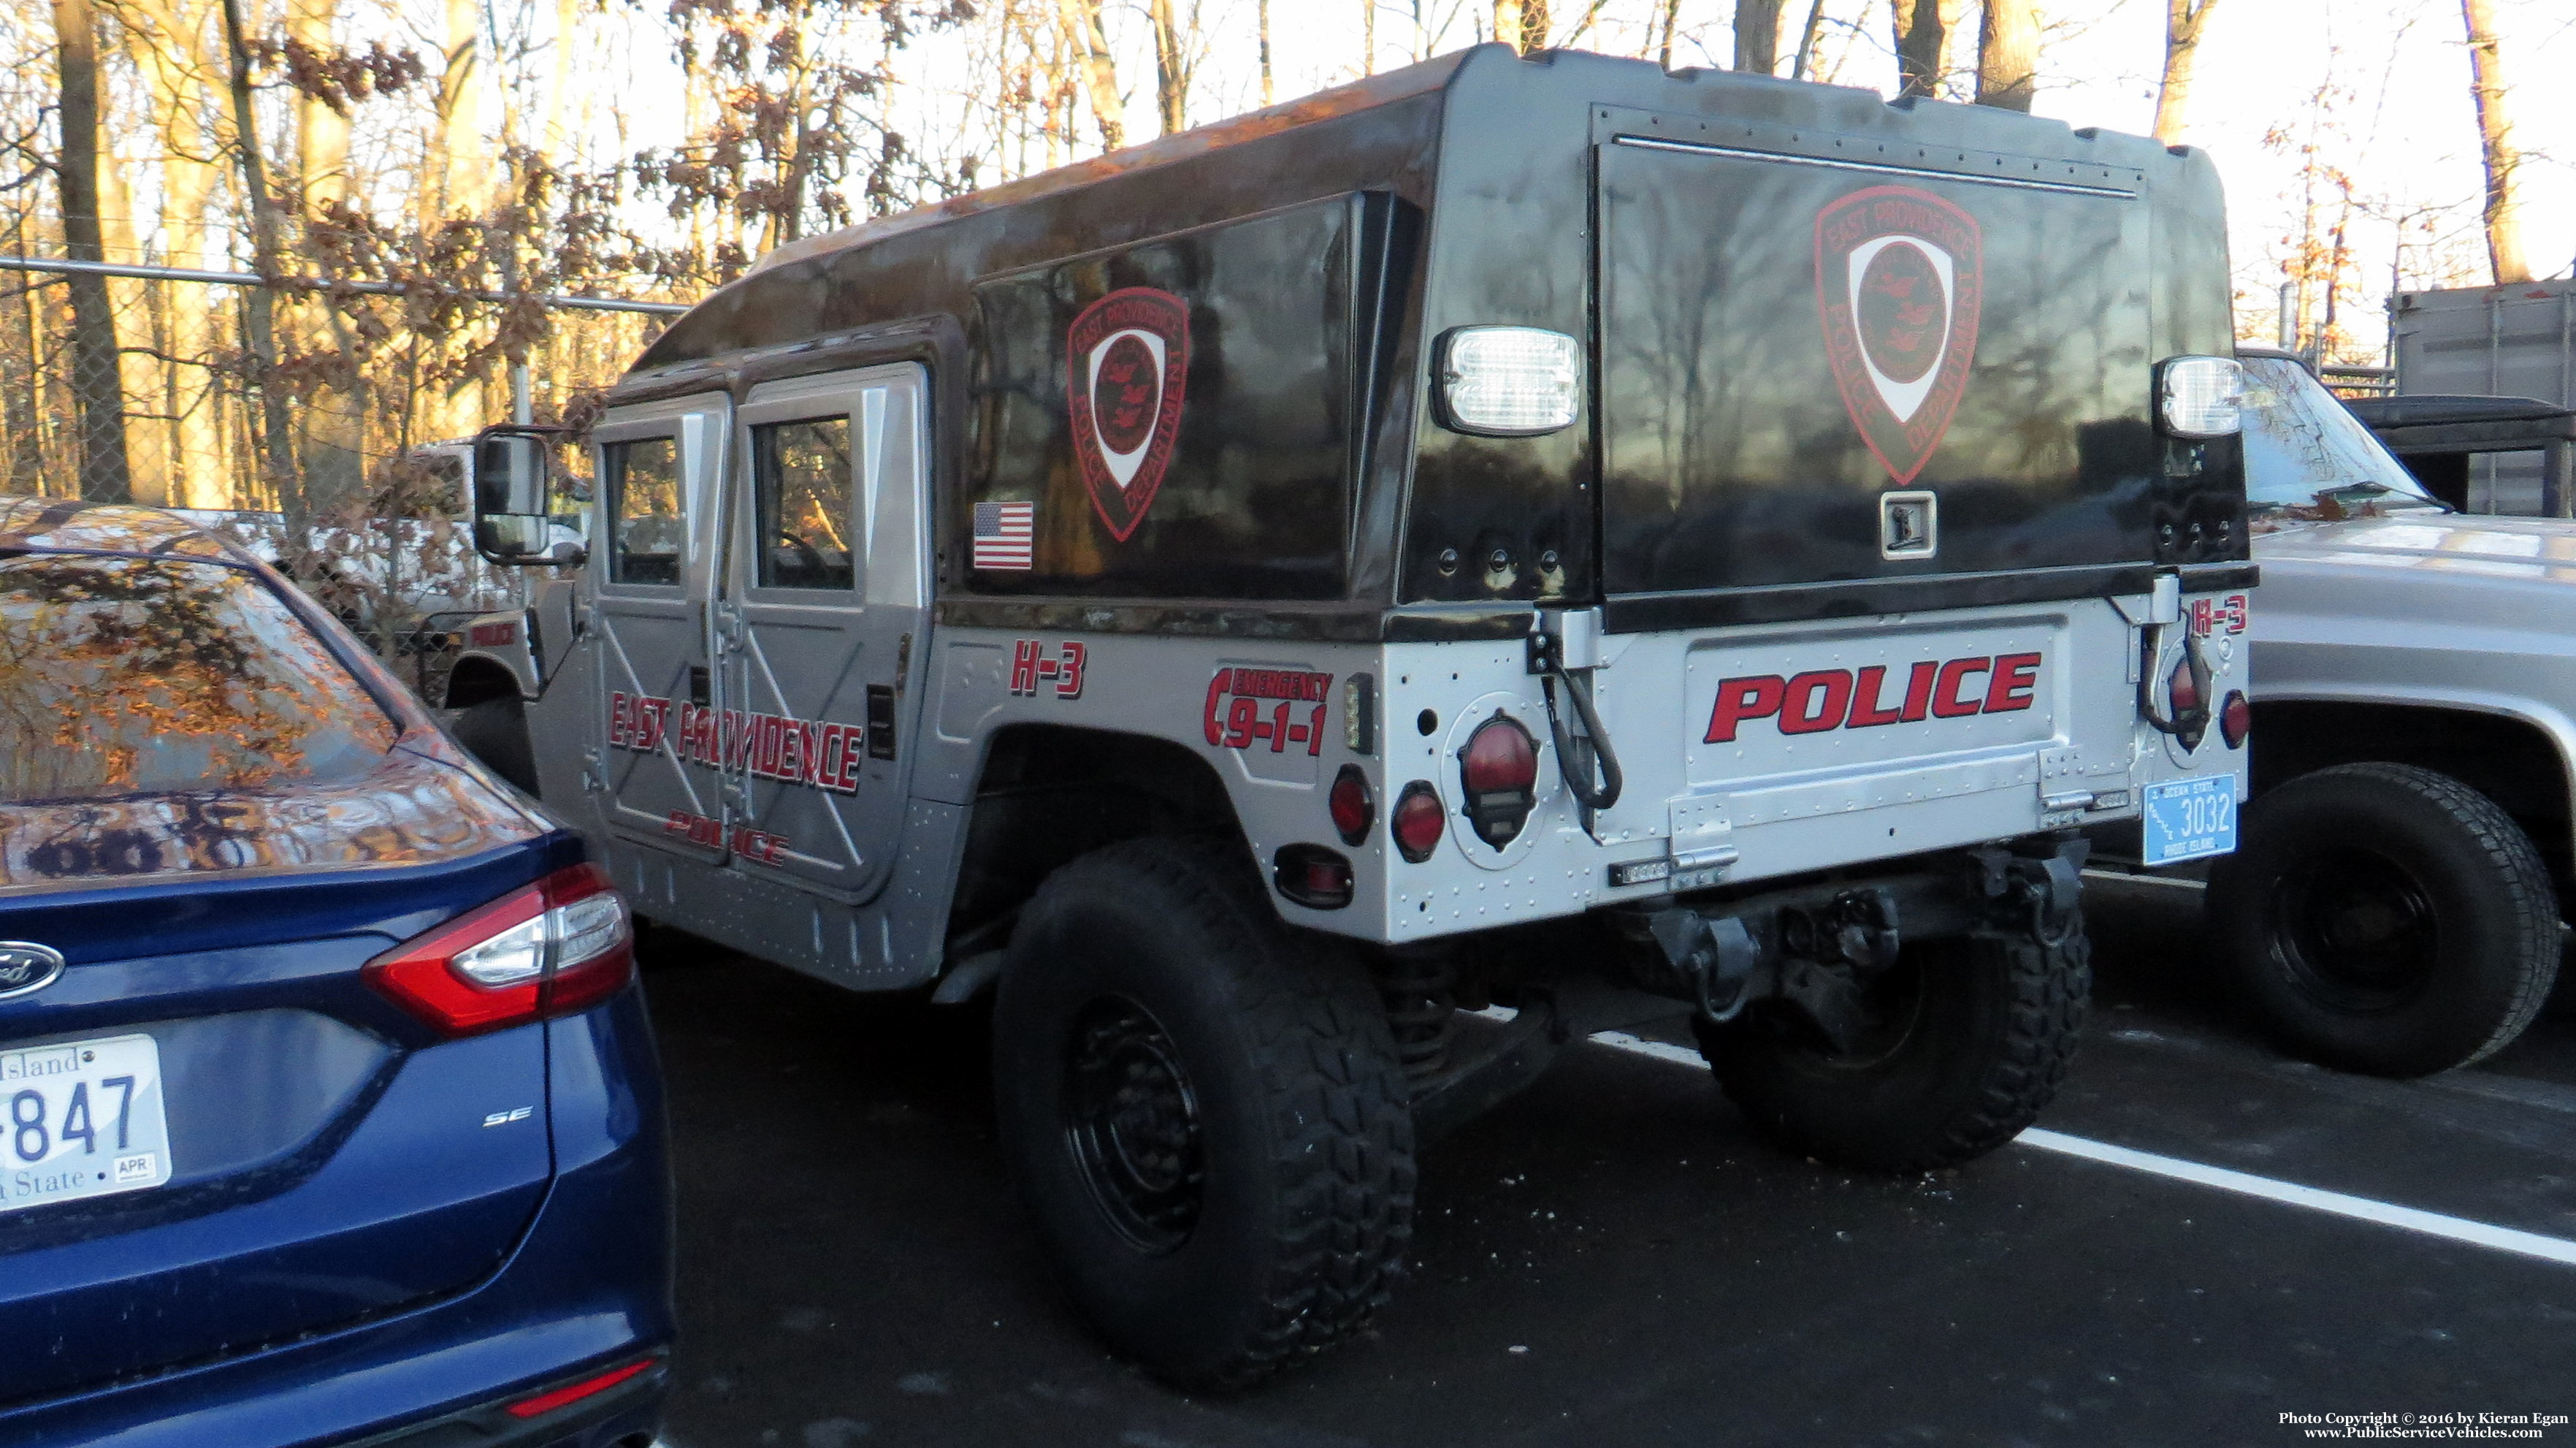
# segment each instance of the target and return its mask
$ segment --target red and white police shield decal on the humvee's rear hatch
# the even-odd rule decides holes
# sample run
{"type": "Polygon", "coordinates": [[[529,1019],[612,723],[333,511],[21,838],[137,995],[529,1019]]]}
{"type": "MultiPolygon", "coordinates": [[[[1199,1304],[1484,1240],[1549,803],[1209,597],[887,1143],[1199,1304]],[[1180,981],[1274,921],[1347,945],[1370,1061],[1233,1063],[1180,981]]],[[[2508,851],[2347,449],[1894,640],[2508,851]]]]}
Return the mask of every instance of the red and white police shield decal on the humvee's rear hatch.
{"type": "Polygon", "coordinates": [[[1816,214],[1816,312],[1842,407],[1899,484],[1932,459],[1976,361],[1976,216],[1911,186],[1816,214]]]}

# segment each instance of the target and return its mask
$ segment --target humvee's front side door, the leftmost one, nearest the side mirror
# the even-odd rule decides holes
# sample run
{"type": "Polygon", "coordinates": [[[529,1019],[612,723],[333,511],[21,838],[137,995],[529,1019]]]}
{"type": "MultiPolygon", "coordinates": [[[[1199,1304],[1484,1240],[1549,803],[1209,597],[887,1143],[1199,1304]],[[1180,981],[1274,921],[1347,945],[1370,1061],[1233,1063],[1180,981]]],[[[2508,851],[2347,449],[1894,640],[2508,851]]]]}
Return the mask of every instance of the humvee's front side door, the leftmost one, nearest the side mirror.
{"type": "Polygon", "coordinates": [[[600,531],[592,750],[611,822],[683,855],[724,850],[721,698],[708,667],[724,394],[621,407],[592,430],[600,531]]]}

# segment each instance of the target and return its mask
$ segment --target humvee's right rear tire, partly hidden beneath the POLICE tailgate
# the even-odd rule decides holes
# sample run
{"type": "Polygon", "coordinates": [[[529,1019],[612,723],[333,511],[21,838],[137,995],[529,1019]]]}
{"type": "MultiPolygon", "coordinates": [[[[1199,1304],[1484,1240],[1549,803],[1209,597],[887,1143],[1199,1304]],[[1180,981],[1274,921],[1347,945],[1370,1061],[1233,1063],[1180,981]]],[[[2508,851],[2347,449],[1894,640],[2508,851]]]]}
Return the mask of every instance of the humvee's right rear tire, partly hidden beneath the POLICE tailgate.
{"type": "Polygon", "coordinates": [[[1718,1087],[1798,1157],[1875,1172],[1955,1167],[2012,1141],[2058,1095],[2092,1000],[2081,922],[2066,940],[1906,946],[1868,987],[1873,1033],[1834,1051],[1793,1007],[1700,1023],[1718,1087]]]}

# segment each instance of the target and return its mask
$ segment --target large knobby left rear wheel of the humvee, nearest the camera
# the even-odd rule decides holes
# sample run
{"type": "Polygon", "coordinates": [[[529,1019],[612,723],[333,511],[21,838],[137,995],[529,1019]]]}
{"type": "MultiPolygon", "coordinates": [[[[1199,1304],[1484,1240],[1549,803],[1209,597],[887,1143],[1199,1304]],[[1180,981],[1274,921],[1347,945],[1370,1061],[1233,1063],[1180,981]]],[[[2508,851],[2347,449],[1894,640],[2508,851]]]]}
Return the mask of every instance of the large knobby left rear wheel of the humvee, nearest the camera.
{"type": "Polygon", "coordinates": [[[1051,873],[992,1020],[1002,1149],[1059,1275],[1113,1348],[1190,1389],[1252,1386],[1360,1329],[1414,1221],[1378,992],[1280,925],[1234,855],[1151,837],[1051,873]]]}

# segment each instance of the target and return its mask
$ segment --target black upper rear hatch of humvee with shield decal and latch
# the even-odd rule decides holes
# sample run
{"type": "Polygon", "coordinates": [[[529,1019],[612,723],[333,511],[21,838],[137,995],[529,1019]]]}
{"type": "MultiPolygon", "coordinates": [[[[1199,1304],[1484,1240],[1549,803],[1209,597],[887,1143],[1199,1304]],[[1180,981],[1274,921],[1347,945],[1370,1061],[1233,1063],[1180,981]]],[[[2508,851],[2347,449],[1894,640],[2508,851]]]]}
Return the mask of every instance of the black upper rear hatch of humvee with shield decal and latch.
{"type": "Polygon", "coordinates": [[[2138,175],[1772,131],[1595,119],[1605,593],[2151,559],[2138,175]]]}

